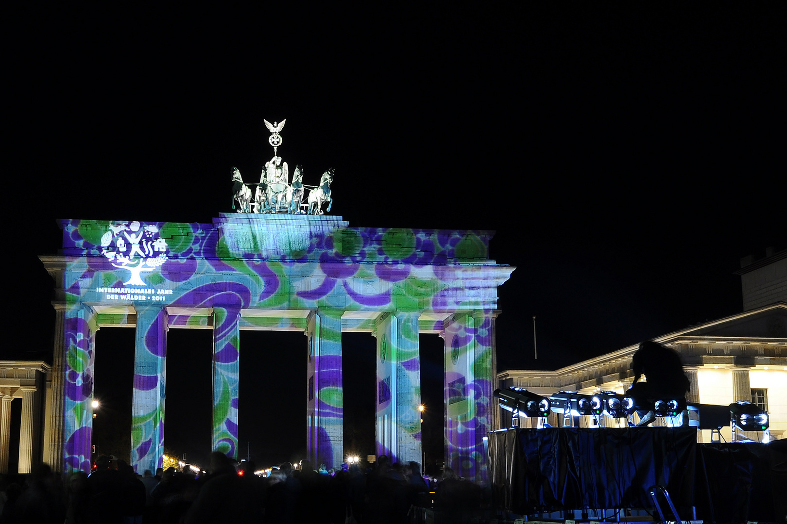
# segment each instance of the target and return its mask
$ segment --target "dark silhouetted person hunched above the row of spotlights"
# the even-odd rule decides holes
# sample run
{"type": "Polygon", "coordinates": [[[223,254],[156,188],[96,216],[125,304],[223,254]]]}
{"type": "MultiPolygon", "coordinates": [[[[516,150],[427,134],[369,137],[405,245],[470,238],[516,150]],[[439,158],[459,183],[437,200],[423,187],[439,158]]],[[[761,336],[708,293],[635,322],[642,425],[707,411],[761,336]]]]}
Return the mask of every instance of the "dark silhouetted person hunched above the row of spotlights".
{"type": "Polygon", "coordinates": [[[626,395],[634,398],[634,405],[640,415],[638,426],[647,426],[656,420],[653,401],[660,398],[685,398],[689,391],[689,379],[683,373],[681,357],[671,348],[646,340],[631,358],[631,367],[634,370],[634,383],[626,395]],[[637,382],[643,374],[648,381],[637,382]]]}

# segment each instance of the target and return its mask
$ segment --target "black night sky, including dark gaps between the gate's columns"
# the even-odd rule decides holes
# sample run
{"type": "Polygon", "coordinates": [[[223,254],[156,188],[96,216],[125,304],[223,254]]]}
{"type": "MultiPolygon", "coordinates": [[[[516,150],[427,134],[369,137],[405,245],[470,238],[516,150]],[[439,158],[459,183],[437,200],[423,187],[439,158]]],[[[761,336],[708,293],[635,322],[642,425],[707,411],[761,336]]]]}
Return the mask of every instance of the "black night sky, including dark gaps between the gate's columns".
{"type": "MultiPolygon", "coordinates": [[[[279,154],[306,184],[334,167],[331,214],[350,225],[497,231],[491,257],[517,268],[499,288],[500,370],[558,368],[741,311],[740,258],[785,247],[778,13],[389,5],[17,7],[2,358],[51,360],[37,255],[57,253],[56,218],[211,222],[231,211],[231,167],[256,181],[272,156],[263,119],[286,119],[279,154]]],[[[365,456],[373,339],[343,343],[345,447],[365,456]]],[[[422,338],[435,454],[440,344],[422,338]]],[[[131,329],[98,333],[105,442],[130,424],[133,345],[131,329]]],[[[301,458],[305,336],[243,332],[241,347],[242,455],[301,458]]],[[[168,352],[165,445],[199,462],[210,332],[171,330],[168,352]]]]}

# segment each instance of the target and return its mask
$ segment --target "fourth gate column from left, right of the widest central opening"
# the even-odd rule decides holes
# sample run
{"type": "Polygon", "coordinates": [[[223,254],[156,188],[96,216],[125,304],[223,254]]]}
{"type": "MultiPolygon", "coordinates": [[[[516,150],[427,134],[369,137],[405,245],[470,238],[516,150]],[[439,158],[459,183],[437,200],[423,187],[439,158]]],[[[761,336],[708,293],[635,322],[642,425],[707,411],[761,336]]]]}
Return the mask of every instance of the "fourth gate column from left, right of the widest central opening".
{"type": "Polygon", "coordinates": [[[342,313],[317,310],[309,316],[307,446],[315,467],[338,468],[344,456],[342,313]]]}

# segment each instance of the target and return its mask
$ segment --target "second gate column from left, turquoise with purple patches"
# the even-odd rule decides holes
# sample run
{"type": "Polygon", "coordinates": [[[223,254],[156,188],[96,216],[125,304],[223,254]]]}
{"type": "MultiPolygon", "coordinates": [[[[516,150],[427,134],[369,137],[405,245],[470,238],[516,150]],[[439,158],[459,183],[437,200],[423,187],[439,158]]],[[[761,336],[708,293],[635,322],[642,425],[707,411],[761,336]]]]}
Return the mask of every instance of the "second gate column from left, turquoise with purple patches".
{"type": "Polygon", "coordinates": [[[164,386],[167,370],[167,311],[139,306],[131,400],[131,465],[156,472],[164,460],[164,386]]]}

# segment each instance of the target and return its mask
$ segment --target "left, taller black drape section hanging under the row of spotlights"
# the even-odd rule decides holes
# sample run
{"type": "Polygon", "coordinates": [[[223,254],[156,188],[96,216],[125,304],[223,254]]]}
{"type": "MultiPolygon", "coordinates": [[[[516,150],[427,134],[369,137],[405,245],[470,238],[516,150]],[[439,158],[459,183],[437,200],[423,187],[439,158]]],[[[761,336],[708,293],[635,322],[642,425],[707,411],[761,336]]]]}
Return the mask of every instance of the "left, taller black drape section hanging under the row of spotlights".
{"type": "Polygon", "coordinates": [[[648,508],[649,486],[691,505],[693,428],[551,427],[490,434],[490,478],[501,508],[519,514],[648,508]]]}

